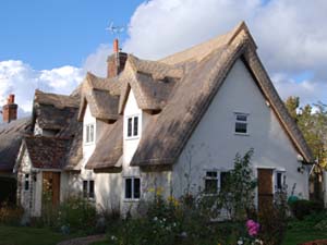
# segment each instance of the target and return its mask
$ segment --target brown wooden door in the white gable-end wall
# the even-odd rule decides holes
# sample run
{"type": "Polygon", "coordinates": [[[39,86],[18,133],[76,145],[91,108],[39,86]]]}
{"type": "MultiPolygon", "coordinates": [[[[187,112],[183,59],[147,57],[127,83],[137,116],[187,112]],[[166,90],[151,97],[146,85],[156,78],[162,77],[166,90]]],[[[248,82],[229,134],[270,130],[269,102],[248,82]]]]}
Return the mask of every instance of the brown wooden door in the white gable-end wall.
{"type": "Polygon", "coordinates": [[[263,210],[265,207],[271,206],[274,201],[272,169],[258,169],[257,180],[258,209],[263,210]]]}

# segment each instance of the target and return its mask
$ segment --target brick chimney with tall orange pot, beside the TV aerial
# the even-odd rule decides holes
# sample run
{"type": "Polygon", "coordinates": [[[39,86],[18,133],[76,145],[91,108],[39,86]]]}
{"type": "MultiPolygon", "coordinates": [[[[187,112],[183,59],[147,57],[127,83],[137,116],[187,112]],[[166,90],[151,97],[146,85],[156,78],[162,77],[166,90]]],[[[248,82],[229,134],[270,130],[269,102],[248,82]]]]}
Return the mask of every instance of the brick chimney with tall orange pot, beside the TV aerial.
{"type": "Polygon", "coordinates": [[[121,52],[119,49],[119,41],[116,38],[113,41],[113,54],[107,59],[107,77],[118,76],[124,70],[128,53],[121,52]]]}

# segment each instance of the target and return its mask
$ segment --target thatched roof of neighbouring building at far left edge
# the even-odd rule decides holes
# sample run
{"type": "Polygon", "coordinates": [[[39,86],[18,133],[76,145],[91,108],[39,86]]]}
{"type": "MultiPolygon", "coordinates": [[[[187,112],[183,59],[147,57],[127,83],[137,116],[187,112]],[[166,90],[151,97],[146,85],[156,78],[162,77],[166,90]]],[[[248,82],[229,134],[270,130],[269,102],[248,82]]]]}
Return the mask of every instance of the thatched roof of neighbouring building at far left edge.
{"type": "Polygon", "coordinates": [[[0,124],[0,172],[12,172],[22,138],[29,133],[29,118],[0,124]]]}

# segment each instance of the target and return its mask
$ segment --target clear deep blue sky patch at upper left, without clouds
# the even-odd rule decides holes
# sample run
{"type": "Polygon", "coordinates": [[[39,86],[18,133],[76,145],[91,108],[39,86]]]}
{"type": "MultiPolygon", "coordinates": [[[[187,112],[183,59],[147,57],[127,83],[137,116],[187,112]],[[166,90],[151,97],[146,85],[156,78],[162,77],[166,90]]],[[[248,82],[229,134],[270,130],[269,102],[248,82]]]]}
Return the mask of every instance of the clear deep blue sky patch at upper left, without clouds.
{"type": "MultiPolygon", "coordinates": [[[[141,0],[4,0],[0,8],[0,60],[24,60],[34,69],[81,66],[106,26],[128,24],[141,0]]],[[[123,38],[124,36],[122,36],[123,38]]]]}

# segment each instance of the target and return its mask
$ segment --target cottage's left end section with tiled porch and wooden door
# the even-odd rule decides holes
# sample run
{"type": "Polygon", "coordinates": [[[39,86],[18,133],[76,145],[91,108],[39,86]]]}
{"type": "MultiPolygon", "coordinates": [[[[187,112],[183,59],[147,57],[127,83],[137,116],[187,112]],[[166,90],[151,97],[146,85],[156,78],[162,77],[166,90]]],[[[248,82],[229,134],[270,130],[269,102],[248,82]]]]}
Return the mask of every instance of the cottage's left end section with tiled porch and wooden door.
{"type": "MultiPolygon", "coordinates": [[[[14,172],[19,204],[40,216],[47,200],[59,204],[69,194],[64,181],[78,174],[82,159],[82,124],[77,122],[78,89],[71,96],[35,91],[32,131],[22,139],[14,172]]],[[[78,187],[78,184],[76,184],[78,187]]]]}

